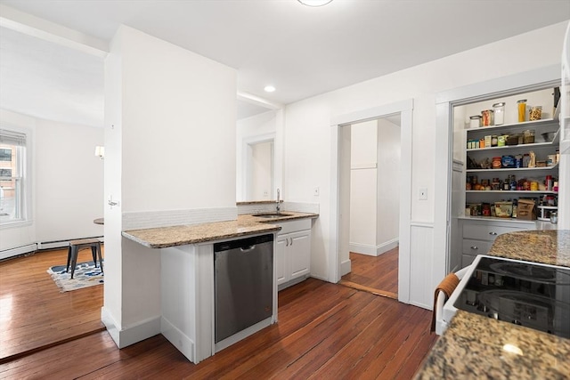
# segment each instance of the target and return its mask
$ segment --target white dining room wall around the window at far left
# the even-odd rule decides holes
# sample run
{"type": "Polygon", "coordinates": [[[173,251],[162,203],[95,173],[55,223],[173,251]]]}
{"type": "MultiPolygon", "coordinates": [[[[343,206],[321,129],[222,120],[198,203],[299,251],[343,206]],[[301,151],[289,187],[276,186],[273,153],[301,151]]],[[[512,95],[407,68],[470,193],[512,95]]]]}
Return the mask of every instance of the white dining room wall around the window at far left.
{"type": "Polygon", "coordinates": [[[32,131],[32,214],[28,225],[0,229],[0,250],[31,243],[102,236],[103,162],[94,156],[103,129],[0,110],[6,125],[32,131]]]}

